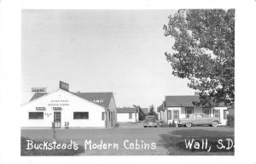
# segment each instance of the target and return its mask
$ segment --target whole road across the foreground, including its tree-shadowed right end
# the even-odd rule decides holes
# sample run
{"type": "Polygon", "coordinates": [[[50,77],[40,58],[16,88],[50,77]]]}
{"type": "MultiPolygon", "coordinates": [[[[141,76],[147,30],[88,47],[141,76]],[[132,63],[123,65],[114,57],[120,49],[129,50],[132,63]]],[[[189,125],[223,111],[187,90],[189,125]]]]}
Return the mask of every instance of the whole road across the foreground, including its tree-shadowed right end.
{"type": "MultiPolygon", "coordinates": [[[[52,140],[49,129],[22,129],[21,136],[36,141],[52,140]]],[[[233,127],[157,127],[157,128],[115,128],[115,129],[60,129],[56,130],[56,139],[62,143],[69,143],[72,139],[77,144],[84,146],[84,141],[92,144],[119,144],[119,149],[92,149],[84,151],[80,156],[232,156],[234,149],[218,150],[218,139],[233,139],[233,127]],[[212,150],[186,149],[184,139],[208,139],[212,150]],[[125,149],[126,144],[150,144],[149,149],[125,149]],[[156,145],[152,147],[151,144],[156,145]]],[[[235,141],[234,141],[235,143],[235,141]]],[[[226,144],[226,143],[224,143],[226,144]]],[[[85,147],[84,147],[85,148],[85,147]]],[[[132,146],[131,146],[132,148],[132,146]]],[[[148,147],[147,147],[148,148],[148,147]]]]}

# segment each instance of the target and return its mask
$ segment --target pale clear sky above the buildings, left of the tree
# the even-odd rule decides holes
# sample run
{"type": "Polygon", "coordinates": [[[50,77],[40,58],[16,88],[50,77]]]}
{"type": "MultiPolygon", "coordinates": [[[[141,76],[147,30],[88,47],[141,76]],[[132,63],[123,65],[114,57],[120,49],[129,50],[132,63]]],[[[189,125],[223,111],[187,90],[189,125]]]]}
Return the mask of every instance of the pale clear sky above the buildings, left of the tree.
{"type": "Polygon", "coordinates": [[[22,10],[21,103],[31,88],[113,92],[118,107],[159,106],[166,95],[193,95],[172,75],[163,25],[175,10],[22,10]]]}

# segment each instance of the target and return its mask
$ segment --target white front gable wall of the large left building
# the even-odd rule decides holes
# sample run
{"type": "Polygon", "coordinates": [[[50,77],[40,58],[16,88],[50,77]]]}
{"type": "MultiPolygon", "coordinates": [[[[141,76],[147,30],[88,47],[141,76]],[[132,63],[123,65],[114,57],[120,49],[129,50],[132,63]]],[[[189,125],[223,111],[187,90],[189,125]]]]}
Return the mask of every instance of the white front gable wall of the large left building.
{"type": "Polygon", "coordinates": [[[61,106],[61,127],[64,127],[65,122],[69,122],[69,127],[105,127],[105,120],[102,121],[102,112],[105,112],[105,109],[102,106],[81,99],[72,93],[67,93],[61,89],[33,100],[26,105],[22,105],[21,118],[23,121],[21,127],[51,127],[52,122],[54,122],[54,110],[52,109],[52,106],[49,105],[54,104],[51,100],[68,100],[68,102],[59,103],[69,104],[61,106]],[[28,119],[28,112],[37,111],[36,107],[45,107],[44,120],[28,119]],[[89,119],[74,120],[74,111],[89,112],[89,119]]]}

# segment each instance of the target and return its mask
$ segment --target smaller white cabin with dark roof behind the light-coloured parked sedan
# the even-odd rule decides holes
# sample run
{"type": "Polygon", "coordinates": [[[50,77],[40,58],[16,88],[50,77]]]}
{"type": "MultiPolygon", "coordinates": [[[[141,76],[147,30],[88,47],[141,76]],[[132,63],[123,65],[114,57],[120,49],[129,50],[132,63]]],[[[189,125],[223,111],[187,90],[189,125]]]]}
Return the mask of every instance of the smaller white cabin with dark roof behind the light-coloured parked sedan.
{"type": "Polygon", "coordinates": [[[226,125],[229,110],[224,103],[220,103],[218,106],[207,107],[195,105],[195,102],[200,102],[198,93],[187,96],[166,96],[163,103],[157,108],[159,121],[168,124],[173,121],[177,123],[178,119],[187,118],[190,114],[204,113],[209,117],[219,117],[220,126],[226,125]]]}

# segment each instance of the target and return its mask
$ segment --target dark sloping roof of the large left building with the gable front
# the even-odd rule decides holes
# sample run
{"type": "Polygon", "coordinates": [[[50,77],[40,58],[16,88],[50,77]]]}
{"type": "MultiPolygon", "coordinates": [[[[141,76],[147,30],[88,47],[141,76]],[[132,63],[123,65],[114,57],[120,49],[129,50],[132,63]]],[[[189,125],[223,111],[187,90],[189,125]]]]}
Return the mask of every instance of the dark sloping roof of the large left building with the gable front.
{"type": "MultiPolygon", "coordinates": [[[[72,93],[72,92],[69,92],[69,93],[72,93]]],[[[30,101],[34,99],[38,99],[46,94],[48,93],[34,93],[30,101]]],[[[95,103],[96,105],[101,105],[104,108],[108,108],[111,97],[113,95],[113,93],[111,92],[110,93],[72,93],[72,94],[78,96],[79,98],[89,100],[95,103]]]]}

